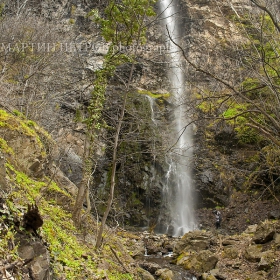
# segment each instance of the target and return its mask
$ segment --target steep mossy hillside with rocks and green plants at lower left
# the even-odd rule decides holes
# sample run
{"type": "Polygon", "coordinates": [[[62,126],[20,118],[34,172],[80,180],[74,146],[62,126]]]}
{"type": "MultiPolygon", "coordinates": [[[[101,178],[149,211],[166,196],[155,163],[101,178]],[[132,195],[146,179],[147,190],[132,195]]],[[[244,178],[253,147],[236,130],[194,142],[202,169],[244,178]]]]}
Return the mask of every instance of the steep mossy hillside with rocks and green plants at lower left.
{"type": "Polygon", "coordinates": [[[63,175],[53,166],[49,134],[18,111],[2,109],[0,131],[2,279],[136,279],[138,272],[141,275],[137,266],[130,267],[133,260],[113,229],[106,230],[109,239],[99,253],[94,249],[94,219],[85,216],[81,228],[73,225],[74,197],[59,184],[63,175]]]}

